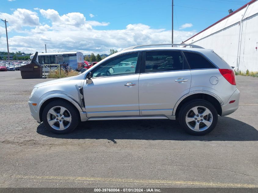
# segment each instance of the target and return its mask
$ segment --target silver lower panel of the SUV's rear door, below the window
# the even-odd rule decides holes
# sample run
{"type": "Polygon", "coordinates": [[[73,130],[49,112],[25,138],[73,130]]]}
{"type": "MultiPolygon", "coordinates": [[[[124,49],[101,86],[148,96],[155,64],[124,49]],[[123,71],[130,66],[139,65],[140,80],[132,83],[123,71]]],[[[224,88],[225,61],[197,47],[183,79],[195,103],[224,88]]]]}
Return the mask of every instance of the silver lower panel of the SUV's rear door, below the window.
{"type": "Polygon", "coordinates": [[[172,115],[176,102],[190,90],[190,70],[140,74],[139,107],[142,116],[172,115]],[[176,82],[187,79],[188,81],[176,82]]]}

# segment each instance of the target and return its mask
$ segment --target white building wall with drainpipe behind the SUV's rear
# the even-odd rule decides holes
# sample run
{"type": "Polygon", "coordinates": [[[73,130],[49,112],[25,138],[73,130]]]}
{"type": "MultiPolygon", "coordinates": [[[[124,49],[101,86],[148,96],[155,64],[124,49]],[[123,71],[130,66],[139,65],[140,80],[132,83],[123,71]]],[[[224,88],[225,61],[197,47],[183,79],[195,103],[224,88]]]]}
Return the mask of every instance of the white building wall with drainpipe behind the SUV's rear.
{"type": "MultiPolygon", "coordinates": [[[[222,20],[202,33],[185,41],[207,49],[213,49],[230,66],[237,66],[239,22],[245,8],[222,20]]],[[[239,67],[241,71],[258,71],[258,1],[249,5],[241,24],[239,67]]]]}

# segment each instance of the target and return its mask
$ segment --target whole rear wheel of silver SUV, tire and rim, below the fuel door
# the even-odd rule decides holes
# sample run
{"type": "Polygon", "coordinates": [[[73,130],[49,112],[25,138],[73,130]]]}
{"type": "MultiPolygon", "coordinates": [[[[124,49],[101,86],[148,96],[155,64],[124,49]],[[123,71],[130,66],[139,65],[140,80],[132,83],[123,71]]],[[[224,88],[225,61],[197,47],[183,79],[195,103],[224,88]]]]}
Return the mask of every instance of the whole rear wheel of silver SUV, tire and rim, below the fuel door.
{"type": "Polygon", "coordinates": [[[217,124],[216,108],[205,100],[192,100],[184,104],[179,112],[179,122],[184,130],[192,135],[205,135],[217,124]]]}

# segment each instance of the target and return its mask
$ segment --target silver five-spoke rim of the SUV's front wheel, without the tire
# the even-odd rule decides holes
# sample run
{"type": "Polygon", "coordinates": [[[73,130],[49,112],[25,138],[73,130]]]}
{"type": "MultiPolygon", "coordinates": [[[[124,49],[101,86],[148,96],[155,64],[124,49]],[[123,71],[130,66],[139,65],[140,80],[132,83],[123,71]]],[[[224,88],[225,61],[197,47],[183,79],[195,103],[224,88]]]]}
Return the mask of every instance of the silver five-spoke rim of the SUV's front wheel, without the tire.
{"type": "Polygon", "coordinates": [[[47,114],[47,120],[55,130],[65,130],[71,125],[72,117],[71,113],[62,106],[54,106],[49,109],[47,114]]]}

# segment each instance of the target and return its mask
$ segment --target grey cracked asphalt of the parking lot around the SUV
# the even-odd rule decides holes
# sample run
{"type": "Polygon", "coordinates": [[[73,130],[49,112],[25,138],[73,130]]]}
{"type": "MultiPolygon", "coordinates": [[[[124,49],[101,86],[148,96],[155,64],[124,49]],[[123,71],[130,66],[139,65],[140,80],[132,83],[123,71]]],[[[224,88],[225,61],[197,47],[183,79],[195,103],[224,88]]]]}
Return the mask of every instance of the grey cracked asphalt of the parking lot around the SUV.
{"type": "Polygon", "coordinates": [[[55,135],[27,105],[52,79],[0,80],[0,187],[258,188],[258,78],[237,76],[239,109],[205,136],[171,120],[89,121],[55,135]]]}

